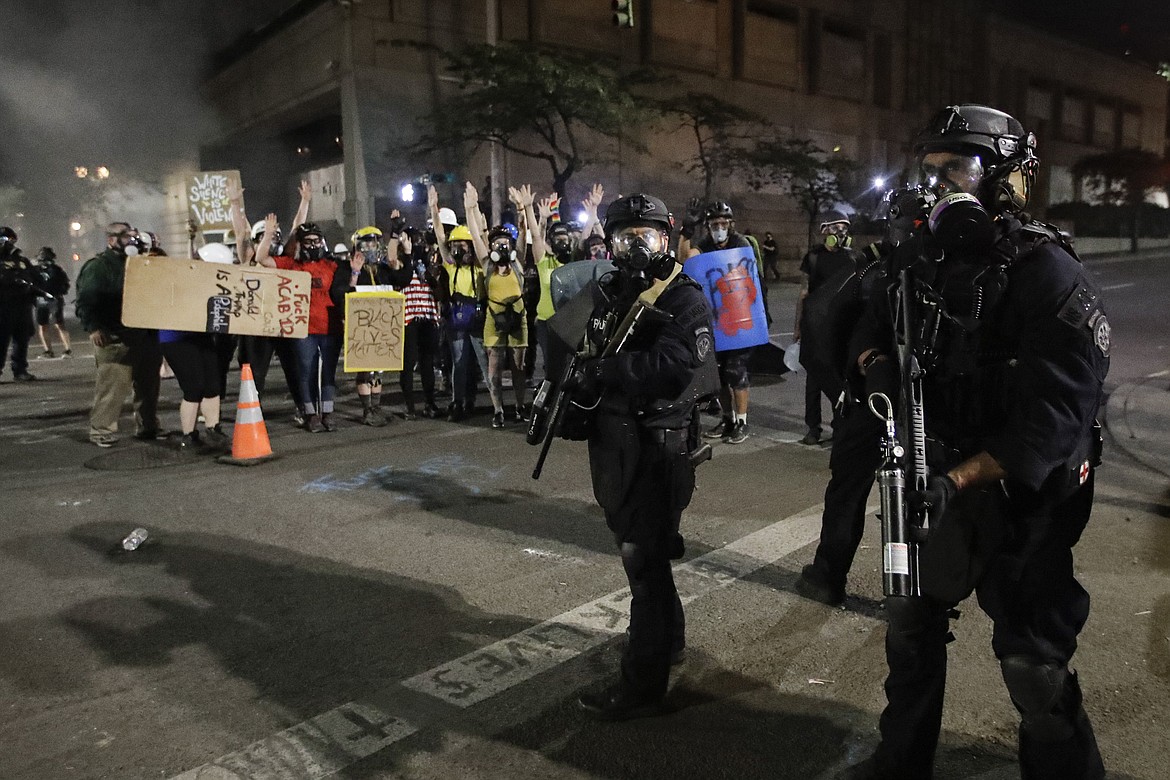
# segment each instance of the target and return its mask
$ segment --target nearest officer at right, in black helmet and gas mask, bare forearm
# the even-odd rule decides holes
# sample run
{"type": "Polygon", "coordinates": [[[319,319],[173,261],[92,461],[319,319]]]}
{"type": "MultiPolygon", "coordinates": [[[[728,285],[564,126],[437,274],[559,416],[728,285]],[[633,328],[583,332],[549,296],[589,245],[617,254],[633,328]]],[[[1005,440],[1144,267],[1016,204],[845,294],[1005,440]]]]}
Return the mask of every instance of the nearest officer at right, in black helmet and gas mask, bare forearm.
{"type": "MultiPolygon", "coordinates": [[[[1024,780],[1104,776],[1068,668],[1089,596],[1073,552],[1093,506],[1095,415],[1109,368],[1099,288],[1072,248],[1024,210],[1035,137],[983,105],[938,112],[915,143],[914,305],[929,538],[920,596],[888,596],[881,744],[851,778],[930,778],[942,722],[951,608],[972,591],[1020,713],[1024,780]]],[[[896,290],[896,288],[894,288],[896,290]]],[[[870,389],[896,386],[896,297],[875,295],[853,341],[870,389]]]]}

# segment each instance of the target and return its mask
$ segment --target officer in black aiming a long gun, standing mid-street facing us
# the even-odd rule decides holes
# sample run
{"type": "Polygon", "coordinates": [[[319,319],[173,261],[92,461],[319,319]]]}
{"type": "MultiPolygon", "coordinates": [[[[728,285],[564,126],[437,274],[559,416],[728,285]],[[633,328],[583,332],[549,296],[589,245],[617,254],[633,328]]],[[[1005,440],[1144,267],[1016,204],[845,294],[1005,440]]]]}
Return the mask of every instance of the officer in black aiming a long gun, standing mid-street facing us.
{"type": "Polygon", "coordinates": [[[679,526],[695,486],[696,403],[718,388],[710,308],[669,250],[673,227],[666,205],[652,195],[610,206],[605,237],[618,270],[600,279],[586,359],[569,380],[570,408],[585,417],[593,495],[632,593],[620,677],[579,699],[606,720],[662,711],[670,662],[683,647],[670,560],[682,555],[679,526]],[[644,310],[651,298],[653,308],[644,310]],[[622,343],[632,311],[640,313],[622,343]],[[617,351],[615,343],[622,343],[617,351]]]}

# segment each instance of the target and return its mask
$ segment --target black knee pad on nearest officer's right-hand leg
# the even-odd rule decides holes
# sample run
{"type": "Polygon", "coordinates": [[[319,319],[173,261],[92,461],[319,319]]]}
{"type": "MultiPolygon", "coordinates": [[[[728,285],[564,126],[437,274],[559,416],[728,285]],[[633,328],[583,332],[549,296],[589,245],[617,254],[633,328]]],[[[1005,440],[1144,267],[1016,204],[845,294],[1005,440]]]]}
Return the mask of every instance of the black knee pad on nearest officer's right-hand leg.
{"type": "Polygon", "coordinates": [[[1081,686],[1068,667],[1025,655],[999,662],[1007,693],[1020,713],[1020,731],[1039,741],[1062,741],[1075,732],[1081,686]]]}

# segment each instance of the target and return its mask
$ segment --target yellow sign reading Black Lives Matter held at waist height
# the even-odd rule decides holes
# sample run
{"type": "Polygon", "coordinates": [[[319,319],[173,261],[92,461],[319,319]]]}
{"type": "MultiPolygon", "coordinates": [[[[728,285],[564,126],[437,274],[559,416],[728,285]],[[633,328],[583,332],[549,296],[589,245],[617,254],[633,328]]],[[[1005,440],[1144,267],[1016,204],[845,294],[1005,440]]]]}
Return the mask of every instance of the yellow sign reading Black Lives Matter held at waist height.
{"type": "Polygon", "coordinates": [[[347,292],[345,372],[401,371],[405,313],[401,292],[347,292]]]}

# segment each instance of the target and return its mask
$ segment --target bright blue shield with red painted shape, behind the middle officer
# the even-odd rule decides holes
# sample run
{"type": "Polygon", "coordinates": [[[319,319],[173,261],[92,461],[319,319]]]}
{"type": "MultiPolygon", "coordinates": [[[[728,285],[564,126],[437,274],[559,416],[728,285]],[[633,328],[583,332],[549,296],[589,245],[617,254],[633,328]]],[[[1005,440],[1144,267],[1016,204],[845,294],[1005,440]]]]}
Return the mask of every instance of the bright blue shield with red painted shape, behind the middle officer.
{"type": "Polygon", "coordinates": [[[764,294],[751,247],[695,255],[682,270],[703,285],[715,312],[716,352],[768,344],[764,294]]]}

